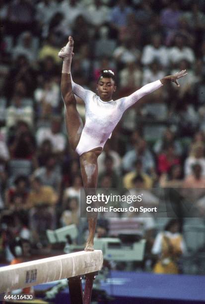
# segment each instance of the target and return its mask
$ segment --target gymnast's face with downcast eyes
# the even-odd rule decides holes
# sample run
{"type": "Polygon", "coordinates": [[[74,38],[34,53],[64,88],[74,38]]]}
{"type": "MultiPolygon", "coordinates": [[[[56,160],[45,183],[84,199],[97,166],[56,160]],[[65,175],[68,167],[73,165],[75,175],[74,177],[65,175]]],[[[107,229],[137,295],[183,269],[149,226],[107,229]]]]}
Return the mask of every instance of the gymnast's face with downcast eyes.
{"type": "Polygon", "coordinates": [[[110,101],[116,91],[115,81],[112,78],[101,77],[97,83],[97,91],[100,99],[110,101]]]}

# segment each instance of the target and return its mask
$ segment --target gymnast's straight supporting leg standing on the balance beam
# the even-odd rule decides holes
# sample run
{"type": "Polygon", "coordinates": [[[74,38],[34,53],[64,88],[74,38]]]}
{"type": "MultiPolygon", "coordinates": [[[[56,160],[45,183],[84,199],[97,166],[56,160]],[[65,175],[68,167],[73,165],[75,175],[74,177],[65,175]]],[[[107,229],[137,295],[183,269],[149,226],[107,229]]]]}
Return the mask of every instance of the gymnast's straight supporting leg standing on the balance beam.
{"type": "MultiPolygon", "coordinates": [[[[85,195],[95,195],[98,177],[97,158],[102,152],[102,148],[93,149],[80,155],[80,168],[85,195]]],[[[93,251],[95,228],[97,223],[97,213],[88,214],[89,235],[85,245],[85,251],[93,251]]]]}

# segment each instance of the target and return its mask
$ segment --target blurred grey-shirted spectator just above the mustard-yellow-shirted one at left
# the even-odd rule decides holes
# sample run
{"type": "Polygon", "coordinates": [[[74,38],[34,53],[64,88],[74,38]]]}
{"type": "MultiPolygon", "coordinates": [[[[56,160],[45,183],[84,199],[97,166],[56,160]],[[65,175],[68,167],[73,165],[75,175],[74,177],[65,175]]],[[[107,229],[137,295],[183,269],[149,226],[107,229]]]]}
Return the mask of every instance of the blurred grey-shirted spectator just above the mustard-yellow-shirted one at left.
{"type": "Polygon", "coordinates": [[[44,186],[50,186],[55,189],[57,193],[60,193],[62,176],[57,167],[57,159],[54,154],[50,154],[45,166],[36,169],[33,175],[39,177],[44,186]]]}

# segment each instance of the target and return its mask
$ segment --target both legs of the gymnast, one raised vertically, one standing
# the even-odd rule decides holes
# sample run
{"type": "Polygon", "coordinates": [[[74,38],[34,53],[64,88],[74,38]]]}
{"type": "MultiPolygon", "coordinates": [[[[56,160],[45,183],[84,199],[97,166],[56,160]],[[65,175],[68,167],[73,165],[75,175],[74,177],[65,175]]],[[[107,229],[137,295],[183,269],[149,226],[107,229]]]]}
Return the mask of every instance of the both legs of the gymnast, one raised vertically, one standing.
{"type": "MultiPolygon", "coordinates": [[[[71,148],[75,151],[80,140],[83,123],[76,109],[76,100],[71,86],[70,66],[73,54],[72,50],[73,40],[72,37],[69,36],[68,44],[61,50],[59,56],[64,60],[61,77],[61,92],[65,103],[65,117],[68,140],[71,148]]],[[[101,151],[102,148],[96,148],[80,155],[80,169],[86,195],[92,194],[91,192],[93,189],[96,189],[97,187],[97,158],[100,155],[101,151]],[[92,189],[90,190],[90,188],[92,189]]],[[[96,222],[97,215],[91,215],[88,217],[89,235],[87,238],[85,251],[93,251],[93,239],[96,222]]]]}

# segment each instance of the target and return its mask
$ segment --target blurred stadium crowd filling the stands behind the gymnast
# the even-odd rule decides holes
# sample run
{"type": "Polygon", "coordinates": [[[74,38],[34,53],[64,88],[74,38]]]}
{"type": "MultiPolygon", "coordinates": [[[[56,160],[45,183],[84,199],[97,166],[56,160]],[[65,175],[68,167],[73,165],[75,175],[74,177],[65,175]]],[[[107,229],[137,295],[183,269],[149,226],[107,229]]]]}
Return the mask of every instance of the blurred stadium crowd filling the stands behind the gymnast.
{"type": "MultiPolygon", "coordinates": [[[[6,248],[15,236],[39,249],[48,246],[48,228],[76,224],[77,241],[84,242],[79,161],[68,145],[60,93],[58,52],[68,35],[74,39],[74,81],[95,91],[100,70],[111,69],[115,99],[187,69],[179,88],[167,85],[127,110],[99,156],[98,186],[144,188],[152,203],[153,187],[201,188],[192,195],[203,212],[204,11],[203,0],[0,0],[2,257],[9,260],[6,248]]],[[[79,98],[77,108],[84,119],[79,98]]],[[[131,229],[135,219],[121,216],[120,228],[124,222],[131,229]]],[[[183,224],[183,214],[177,218],[183,224]]],[[[118,220],[99,219],[97,234],[119,233],[118,220]]],[[[159,219],[138,221],[151,250],[159,219]]],[[[159,253],[157,244],[153,253],[159,253]]]]}

